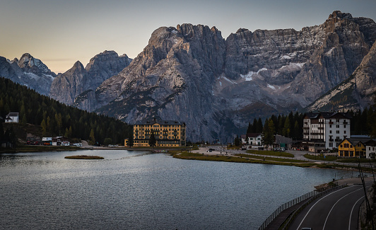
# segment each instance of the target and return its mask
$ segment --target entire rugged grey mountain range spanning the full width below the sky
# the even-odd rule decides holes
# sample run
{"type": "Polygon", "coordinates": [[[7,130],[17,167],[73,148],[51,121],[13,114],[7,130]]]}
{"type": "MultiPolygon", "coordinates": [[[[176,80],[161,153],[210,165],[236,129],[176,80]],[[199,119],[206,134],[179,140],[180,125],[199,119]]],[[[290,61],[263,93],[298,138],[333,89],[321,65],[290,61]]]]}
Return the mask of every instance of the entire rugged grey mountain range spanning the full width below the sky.
{"type": "Polygon", "coordinates": [[[31,71],[17,60],[0,59],[0,74],[130,124],[180,120],[191,141],[229,142],[254,117],[368,106],[376,91],[375,40],[372,19],[340,11],[300,31],[240,28],[227,39],[216,27],[182,24],[155,30],[133,60],[105,51],[85,68],[76,62],[52,73],[49,90],[20,81],[31,71]]]}

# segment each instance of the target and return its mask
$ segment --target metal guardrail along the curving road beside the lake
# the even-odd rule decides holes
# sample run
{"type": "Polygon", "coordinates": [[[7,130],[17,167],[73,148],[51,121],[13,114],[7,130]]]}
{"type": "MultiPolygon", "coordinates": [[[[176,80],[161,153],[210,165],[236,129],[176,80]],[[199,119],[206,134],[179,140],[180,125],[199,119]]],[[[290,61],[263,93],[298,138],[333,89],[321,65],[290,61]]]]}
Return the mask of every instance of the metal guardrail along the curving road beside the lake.
{"type": "MultiPolygon", "coordinates": [[[[336,185],[333,185],[333,186],[336,186],[336,185]]],[[[276,211],[274,211],[268,218],[266,218],[264,223],[262,223],[262,225],[259,227],[259,230],[264,230],[266,228],[266,226],[268,226],[278,216],[278,214],[280,214],[284,210],[288,209],[289,207],[293,207],[293,205],[297,205],[298,203],[302,202],[303,200],[307,200],[309,198],[310,198],[311,201],[315,200],[320,195],[325,194],[325,193],[332,191],[334,189],[338,189],[338,188],[343,188],[343,185],[336,186],[336,187],[330,188],[330,189],[324,189],[323,188],[323,189],[320,189],[320,190],[313,190],[312,192],[307,192],[305,195],[301,195],[300,197],[295,198],[294,200],[290,200],[289,202],[284,203],[283,205],[278,207],[278,209],[276,209],[276,211]]],[[[305,204],[306,204],[306,202],[305,202],[305,204]]]]}

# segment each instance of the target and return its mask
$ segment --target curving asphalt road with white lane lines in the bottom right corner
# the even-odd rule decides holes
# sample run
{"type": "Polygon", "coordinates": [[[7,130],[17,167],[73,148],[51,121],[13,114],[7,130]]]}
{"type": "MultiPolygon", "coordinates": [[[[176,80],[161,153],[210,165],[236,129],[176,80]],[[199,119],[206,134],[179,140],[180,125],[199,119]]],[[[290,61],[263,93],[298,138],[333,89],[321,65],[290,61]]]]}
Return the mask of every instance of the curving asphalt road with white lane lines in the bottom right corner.
{"type": "MultiPolygon", "coordinates": [[[[371,184],[366,183],[366,188],[370,188],[371,184]]],[[[288,229],[358,229],[359,207],[363,200],[363,185],[336,190],[305,207],[288,229]]]]}

